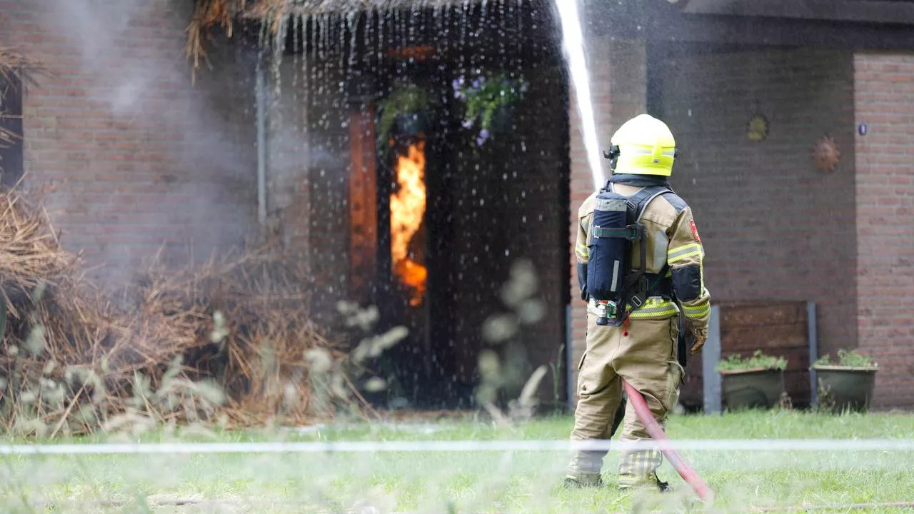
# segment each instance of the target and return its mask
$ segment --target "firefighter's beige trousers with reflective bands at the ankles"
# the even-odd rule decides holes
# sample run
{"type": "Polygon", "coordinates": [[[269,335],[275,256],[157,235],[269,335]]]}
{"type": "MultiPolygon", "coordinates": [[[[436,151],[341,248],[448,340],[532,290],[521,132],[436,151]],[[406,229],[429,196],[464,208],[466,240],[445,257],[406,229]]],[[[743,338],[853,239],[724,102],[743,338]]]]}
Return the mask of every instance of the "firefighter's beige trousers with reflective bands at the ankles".
{"type": "MultiPolygon", "coordinates": [[[[587,350],[579,362],[578,407],[572,440],[609,439],[612,419],[622,402],[622,378],[641,391],[654,419],[665,425],[666,414],[679,401],[684,370],[676,359],[679,335],[677,318],[632,319],[627,326],[600,327],[597,316],[588,314],[587,350]]],[[[628,402],[622,425],[622,440],[650,436],[628,402]]],[[[577,452],[569,475],[584,480],[600,476],[605,451],[577,452]]],[[[663,462],[659,450],[623,452],[619,485],[639,486],[654,480],[663,462]]]]}

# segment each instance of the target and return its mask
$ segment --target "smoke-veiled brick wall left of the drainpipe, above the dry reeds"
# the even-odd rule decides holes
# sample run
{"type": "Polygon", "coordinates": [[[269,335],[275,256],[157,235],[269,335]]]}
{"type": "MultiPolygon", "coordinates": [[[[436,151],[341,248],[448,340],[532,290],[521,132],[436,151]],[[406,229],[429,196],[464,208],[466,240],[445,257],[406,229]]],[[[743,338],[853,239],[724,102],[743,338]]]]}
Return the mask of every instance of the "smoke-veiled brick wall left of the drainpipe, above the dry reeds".
{"type": "Polygon", "coordinates": [[[27,184],[48,198],[64,244],[119,282],[163,243],[197,257],[244,241],[256,166],[250,77],[231,47],[193,88],[190,5],[2,0],[0,41],[53,77],[24,106],[27,184]]]}

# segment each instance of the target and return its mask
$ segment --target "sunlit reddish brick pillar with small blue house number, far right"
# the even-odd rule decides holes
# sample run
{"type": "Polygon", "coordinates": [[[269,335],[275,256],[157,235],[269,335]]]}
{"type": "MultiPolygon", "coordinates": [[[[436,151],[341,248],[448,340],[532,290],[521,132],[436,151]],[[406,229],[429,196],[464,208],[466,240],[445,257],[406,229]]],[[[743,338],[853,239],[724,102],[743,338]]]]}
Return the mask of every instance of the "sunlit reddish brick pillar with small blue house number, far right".
{"type": "Polygon", "coordinates": [[[856,267],[860,348],[872,354],[879,407],[914,406],[914,54],[854,56],[856,267]]]}

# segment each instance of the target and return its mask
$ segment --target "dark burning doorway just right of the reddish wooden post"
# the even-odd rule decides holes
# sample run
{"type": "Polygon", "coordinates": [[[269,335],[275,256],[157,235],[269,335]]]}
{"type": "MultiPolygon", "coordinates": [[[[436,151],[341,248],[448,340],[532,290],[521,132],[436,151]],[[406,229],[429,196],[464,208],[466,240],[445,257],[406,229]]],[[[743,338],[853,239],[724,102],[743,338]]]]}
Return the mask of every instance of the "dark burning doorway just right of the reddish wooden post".
{"type": "MultiPolygon", "coordinates": [[[[436,84],[428,73],[414,76],[422,75],[431,91],[445,83],[436,84]]],[[[441,344],[452,329],[453,311],[448,123],[442,107],[400,116],[389,137],[376,136],[373,142],[377,265],[371,301],[380,311],[379,329],[409,329],[409,336],[378,362],[390,386],[387,400],[395,404],[451,407],[468,401],[472,391],[469,381],[458,386],[453,347],[441,344]]]]}

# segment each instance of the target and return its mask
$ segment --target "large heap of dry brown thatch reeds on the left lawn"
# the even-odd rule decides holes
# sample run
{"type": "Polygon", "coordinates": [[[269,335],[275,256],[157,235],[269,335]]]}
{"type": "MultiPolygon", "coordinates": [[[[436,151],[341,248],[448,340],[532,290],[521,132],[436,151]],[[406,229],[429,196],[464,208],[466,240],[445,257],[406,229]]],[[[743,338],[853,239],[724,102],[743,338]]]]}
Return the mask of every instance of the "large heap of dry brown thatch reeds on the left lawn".
{"type": "Polygon", "coordinates": [[[113,305],[77,273],[79,259],[60,248],[44,209],[8,191],[0,206],[8,431],[298,424],[354,405],[340,372],[345,354],[309,318],[303,270],[282,252],[178,271],[153,259],[113,305]],[[344,391],[324,387],[331,383],[344,391]]]}

